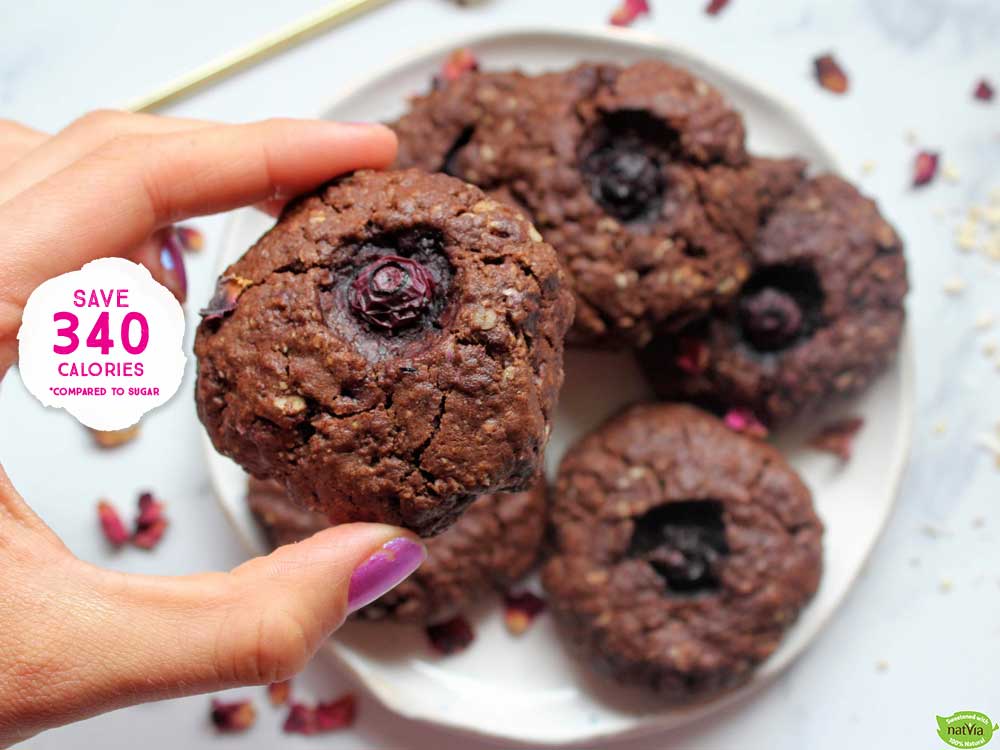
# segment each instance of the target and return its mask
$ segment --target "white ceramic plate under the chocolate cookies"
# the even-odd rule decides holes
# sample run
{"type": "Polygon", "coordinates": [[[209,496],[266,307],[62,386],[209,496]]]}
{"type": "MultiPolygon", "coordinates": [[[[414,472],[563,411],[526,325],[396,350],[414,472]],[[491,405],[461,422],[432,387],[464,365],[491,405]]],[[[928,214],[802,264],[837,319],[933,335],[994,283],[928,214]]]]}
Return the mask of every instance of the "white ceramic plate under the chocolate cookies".
{"type": "MultiPolygon", "coordinates": [[[[628,63],[643,57],[679,63],[719,87],[743,113],[754,151],[797,154],[808,158],[814,170],[841,171],[803,120],[773,94],[691,51],[618,30],[531,29],[452,39],[366,77],[329,105],[323,116],[364,121],[398,115],[407,97],[425,90],[444,56],[459,46],[472,47],[487,69],[540,71],[582,60],[628,63]]],[[[262,214],[237,213],[229,224],[220,264],[239,257],[270,224],[262,214]]],[[[388,624],[351,623],[330,648],[398,713],[508,741],[550,745],[593,741],[669,729],[721,709],[768,682],[802,652],[864,565],[890,515],[909,450],[911,368],[907,339],[897,364],[862,397],[838,408],[866,420],[855,457],[847,465],[801,449],[805,427],[779,436],[780,446],[812,488],[826,524],[826,567],[816,598],[781,647],[739,691],[695,707],[665,709],[649,696],[591,676],[564,650],[548,617],[539,618],[520,638],[508,635],[495,601],[473,613],[476,641],[459,655],[437,658],[429,652],[422,631],[388,624]]],[[[566,385],[548,451],[550,476],[573,440],[624,404],[649,397],[628,354],[568,352],[566,385]]],[[[248,549],[264,552],[263,539],[245,507],[242,470],[215,453],[207,438],[205,445],[222,506],[248,549]]]]}

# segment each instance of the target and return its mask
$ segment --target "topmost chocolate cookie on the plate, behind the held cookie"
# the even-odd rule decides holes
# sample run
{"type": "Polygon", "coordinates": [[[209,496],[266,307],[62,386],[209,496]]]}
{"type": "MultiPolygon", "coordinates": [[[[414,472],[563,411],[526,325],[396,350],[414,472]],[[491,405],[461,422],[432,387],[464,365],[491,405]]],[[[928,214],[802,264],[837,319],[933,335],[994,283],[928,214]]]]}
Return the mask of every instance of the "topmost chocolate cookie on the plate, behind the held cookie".
{"type": "Polygon", "coordinates": [[[531,217],[573,279],[578,344],[643,345],[731,298],[759,222],[803,168],[752,160],[722,96],[653,60],[469,73],[393,127],[400,164],[447,171],[531,217]]]}

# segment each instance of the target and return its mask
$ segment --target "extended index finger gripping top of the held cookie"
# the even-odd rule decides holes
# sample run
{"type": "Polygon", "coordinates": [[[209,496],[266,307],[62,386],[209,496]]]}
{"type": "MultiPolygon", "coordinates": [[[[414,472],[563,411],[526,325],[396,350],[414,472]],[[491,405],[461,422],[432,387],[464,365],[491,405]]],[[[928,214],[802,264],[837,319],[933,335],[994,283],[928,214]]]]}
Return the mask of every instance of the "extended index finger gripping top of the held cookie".
{"type": "Polygon", "coordinates": [[[0,208],[0,303],[7,303],[0,316],[19,310],[46,279],[124,253],[157,227],[382,168],[395,151],[395,135],[384,126],[320,120],[116,139],[0,208]]]}

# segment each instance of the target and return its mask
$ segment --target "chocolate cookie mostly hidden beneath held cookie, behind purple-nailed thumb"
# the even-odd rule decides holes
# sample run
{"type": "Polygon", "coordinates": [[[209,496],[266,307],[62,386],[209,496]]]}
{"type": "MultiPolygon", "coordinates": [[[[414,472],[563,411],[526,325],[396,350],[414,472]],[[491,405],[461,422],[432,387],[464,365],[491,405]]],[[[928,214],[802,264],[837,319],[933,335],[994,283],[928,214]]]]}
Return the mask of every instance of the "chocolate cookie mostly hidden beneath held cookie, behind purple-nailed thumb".
{"type": "MultiPolygon", "coordinates": [[[[274,546],[329,526],[273,481],[250,480],[247,503],[274,546]]],[[[443,534],[427,541],[427,560],[408,579],[356,613],[420,625],[443,622],[491,591],[506,591],[534,566],[545,532],[546,487],[486,495],[443,534]]]]}

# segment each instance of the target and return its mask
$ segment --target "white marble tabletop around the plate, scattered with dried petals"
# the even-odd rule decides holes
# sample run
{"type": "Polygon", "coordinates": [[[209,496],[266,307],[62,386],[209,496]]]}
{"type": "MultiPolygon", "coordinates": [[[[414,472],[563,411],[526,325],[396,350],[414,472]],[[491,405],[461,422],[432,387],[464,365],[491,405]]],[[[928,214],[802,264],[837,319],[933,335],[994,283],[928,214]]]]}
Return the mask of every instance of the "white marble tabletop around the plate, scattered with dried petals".
{"type": "MultiPolygon", "coordinates": [[[[229,121],[310,116],[359,71],[442,36],[532,23],[597,26],[614,0],[394,0],[384,8],[172,107],[229,121]]],[[[717,18],[703,0],[653,0],[637,28],[697,47],[784,92],[878,198],[907,241],[909,309],[917,341],[914,450],[889,528],[843,609],[774,685],[681,731],[620,748],[842,748],[864,738],[886,747],[934,747],[934,715],[976,709],[1000,716],[1000,464],[978,444],[1000,422],[1000,264],[957,251],[956,224],[1000,188],[1000,101],[972,99],[986,75],[1000,84],[995,0],[732,0],[717,18]],[[851,91],[832,96],[811,76],[833,51],[851,91]],[[953,180],[914,191],[919,147],[940,150],[953,180]],[[945,287],[962,280],[959,293],[945,287]],[[975,322],[992,313],[998,323],[975,322]]],[[[0,116],[56,130],[81,113],[120,106],[165,80],[320,5],[318,0],[175,0],[0,7],[0,116]]],[[[207,299],[224,218],[199,220],[207,250],[191,259],[193,306],[207,299]]],[[[190,345],[190,332],[188,345],[190,345]]],[[[192,370],[181,392],[144,420],[139,441],[98,453],[63,413],[44,410],[15,373],[0,390],[0,460],[18,489],[81,557],[121,570],[221,570],[243,551],[212,500],[199,454],[192,370]],[[60,471],[51,467],[58,459],[60,471]],[[94,501],[131,502],[152,488],[173,528],[154,554],[110,554],[94,501]]],[[[332,697],[354,686],[317,659],[298,682],[332,697]]],[[[295,746],[257,689],[262,717],[233,742],[295,746]]],[[[48,732],[30,748],[151,750],[211,747],[204,697],[117,711],[48,732]]],[[[516,721],[517,717],[511,717],[516,721]]],[[[403,721],[362,697],[354,731],[303,740],[324,747],[475,748],[468,738],[403,721]]],[[[482,745],[488,747],[490,745],[482,745]]],[[[602,747],[608,745],[602,744],[602,747]]],[[[942,745],[943,746],[943,745],[942,745]]]]}

